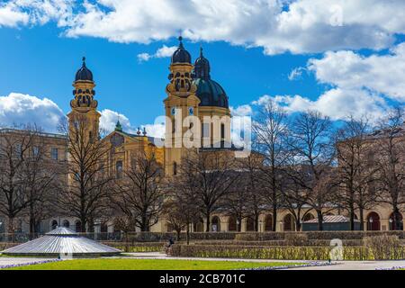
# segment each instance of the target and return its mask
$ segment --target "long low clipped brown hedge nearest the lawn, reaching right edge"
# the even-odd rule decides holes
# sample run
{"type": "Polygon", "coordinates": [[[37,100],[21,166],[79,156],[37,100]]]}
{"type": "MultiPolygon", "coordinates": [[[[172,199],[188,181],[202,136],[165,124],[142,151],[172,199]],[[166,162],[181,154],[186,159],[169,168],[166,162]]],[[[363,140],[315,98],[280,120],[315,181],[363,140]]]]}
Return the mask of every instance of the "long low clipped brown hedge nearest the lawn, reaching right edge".
{"type": "MultiPolygon", "coordinates": [[[[175,257],[223,257],[275,260],[329,260],[332,247],[252,247],[252,246],[202,246],[175,245],[175,257]]],[[[405,248],[391,249],[385,257],[392,260],[405,259],[405,248]]],[[[373,252],[366,247],[344,247],[345,260],[375,260],[373,252]]]]}

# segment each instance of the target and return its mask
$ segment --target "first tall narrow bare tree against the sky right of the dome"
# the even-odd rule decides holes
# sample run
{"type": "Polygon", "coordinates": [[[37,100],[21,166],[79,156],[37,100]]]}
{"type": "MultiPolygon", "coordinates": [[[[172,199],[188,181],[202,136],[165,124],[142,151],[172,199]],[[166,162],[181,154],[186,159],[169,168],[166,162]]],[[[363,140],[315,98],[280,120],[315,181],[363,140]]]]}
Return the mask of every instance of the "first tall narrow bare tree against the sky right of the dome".
{"type": "Polygon", "coordinates": [[[265,198],[273,213],[273,230],[276,229],[277,210],[281,198],[280,171],[285,164],[285,137],[288,134],[286,113],[276,103],[269,102],[258,112],[253,123],[257,148],[265,157],[261,166],[260,182],[265,190],[265,198]]]}

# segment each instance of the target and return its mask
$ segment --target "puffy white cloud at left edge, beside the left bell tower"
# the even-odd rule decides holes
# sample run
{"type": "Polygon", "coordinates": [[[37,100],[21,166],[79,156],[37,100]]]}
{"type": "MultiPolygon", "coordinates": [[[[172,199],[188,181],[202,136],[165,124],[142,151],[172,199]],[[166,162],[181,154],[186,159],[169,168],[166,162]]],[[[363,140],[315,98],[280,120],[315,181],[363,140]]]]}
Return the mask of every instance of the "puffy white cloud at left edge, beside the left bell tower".
{"type": "Polygon", "coordinates": [[[57,132],[65,114],[48,98],[11,93],[0,96],[0,126],[36,124],[40,129],[57,132]]]}

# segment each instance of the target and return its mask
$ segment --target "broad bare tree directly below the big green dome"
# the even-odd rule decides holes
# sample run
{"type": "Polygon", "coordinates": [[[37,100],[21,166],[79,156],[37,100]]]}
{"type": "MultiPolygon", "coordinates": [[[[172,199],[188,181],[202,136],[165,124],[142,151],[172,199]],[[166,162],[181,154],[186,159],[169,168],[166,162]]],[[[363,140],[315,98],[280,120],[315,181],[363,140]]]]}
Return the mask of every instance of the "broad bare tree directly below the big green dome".
{"type": "Polygon", "coordinates": [[[222,150],[189,150],[182,158],[179,172],[187,189],[195,194],[206,219],[207,232],[210,231],[212,212],[220,209],[221,201],[238,180],[236,168],[234,158],[222,150]]]}

